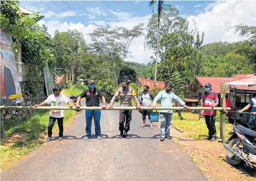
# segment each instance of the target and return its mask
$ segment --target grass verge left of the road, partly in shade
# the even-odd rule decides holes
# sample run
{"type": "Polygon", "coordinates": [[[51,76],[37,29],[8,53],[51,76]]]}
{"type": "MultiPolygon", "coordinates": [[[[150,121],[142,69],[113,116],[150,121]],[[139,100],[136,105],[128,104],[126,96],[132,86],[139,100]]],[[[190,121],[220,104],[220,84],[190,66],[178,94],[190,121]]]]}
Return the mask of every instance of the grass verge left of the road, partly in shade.
{"type": "MultiPolygon", "coordinates": [[[[63,125],[72,121],[75,111],[64,111],[63,125]]],[[[15,162],[24,155],[32,152],[45,142],[45,135],[49,123],[50,111],[37,113],[26,121],[17,122],[5,132],[1,139],[1,170],[12,167],[15,162]]],[[[57,122],[57,121],[56,121],[57,122]]],[[[53,132],[58,132],[58,124],[55,123],[53,132]]]]}

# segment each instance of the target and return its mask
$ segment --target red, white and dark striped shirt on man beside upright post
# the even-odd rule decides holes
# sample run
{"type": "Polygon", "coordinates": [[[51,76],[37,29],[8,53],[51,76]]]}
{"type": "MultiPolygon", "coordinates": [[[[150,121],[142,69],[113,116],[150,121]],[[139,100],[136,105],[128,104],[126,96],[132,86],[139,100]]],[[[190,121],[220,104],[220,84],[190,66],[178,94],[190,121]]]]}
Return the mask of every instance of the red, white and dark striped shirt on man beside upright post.
{"type": "MultiPolygon", "coordinates": [[[[204,104],[203,107],[211,107],[211,104],[218,102],[218,94],[214,91],[211,91],[209,94],[204,92],[201,98],[201,102],[204,104]]],[[[216,115],[216,111],[204,110],[204,115],[216,115]]]]}

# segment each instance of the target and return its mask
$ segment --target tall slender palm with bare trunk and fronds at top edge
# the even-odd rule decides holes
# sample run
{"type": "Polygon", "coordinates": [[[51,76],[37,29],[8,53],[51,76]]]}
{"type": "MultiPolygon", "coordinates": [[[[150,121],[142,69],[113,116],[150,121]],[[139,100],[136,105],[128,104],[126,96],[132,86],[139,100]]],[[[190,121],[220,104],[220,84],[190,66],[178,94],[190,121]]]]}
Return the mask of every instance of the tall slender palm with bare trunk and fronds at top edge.
{"type": "MultiPolygon", "coordinates": [[[[154,5],[156,4],[157,0],[151,0],[149,2],[149,7],[152,9],[153,13],[154,13],[154,5]]],[[[160,27],[160,15],[162,13],[163,10],[163,4],[164,4],[164,0],[158,0],[158,35],[157,35],[157,57],[156,57],[156,67],[155,67],[155,81],[154,84],[156,85],[156,81],[157,81],[157,67],[158,67],[158,51],[159,51],[159,27],[160,27]]]]}

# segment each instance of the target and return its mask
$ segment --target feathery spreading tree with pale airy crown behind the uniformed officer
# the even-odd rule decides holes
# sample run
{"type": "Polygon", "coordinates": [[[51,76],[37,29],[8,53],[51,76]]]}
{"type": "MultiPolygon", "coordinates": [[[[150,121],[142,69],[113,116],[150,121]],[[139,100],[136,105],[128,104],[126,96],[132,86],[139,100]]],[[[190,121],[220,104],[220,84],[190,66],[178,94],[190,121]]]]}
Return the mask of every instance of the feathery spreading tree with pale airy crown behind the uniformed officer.
{"type": "Polygon", "coordinates": [[[109,56],[109,70],[114,72],[114,80],[118,85],[118,75],[123,60],[130,54],[129,45],[136,37],[143,35],[143,24],[138,24],[132,29],[123,27],[111,28],[109,24],[98,26],[89,34],[93,43],[90,44],[90,51],[109,56]],[[121,60],[119,59],[121,57],[121,60]]]}

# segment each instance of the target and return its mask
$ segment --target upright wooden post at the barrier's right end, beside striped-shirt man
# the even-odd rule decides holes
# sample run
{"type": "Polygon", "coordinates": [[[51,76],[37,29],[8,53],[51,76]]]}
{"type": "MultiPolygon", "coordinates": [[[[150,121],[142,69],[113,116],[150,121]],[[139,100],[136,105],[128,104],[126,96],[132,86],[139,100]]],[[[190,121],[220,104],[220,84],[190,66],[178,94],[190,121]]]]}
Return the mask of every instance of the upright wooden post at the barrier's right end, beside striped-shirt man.
{"type": "Polygon", "coordinates": [[[225,130],[226,130],[226,86],[224,82],[220,83],[220,106],[222,111],[220,111],[220,141],[224,144],[226,141],[225,130]]]}

